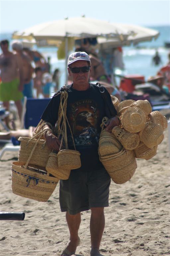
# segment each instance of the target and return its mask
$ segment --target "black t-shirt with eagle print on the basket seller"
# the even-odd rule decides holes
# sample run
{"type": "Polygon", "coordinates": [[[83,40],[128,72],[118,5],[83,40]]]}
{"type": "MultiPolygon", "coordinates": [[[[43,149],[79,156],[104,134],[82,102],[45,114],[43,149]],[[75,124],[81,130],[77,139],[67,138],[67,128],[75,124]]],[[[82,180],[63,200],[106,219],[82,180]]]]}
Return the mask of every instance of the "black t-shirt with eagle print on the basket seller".
{"type": "MultiPolygon", "coordinates": [[[[105,90],[108,101],[110,94],[105,90]]],[[[101,92],[94,85],[86,91],[78,91],[71,86],[67,90],[67,119],[70,124],[76,150],[81,154],[82,168],[102,166],[98,155],[101,123],[105,113],[105,103],[101,92]]],[[[57,94],[57,93],[56,93],[57,94]]],[[[54,95],[42,114],[42,119],[55,125],[58,118],[60,94],[54,95]]],[[[67,126],[68,148],[74,149],[70,130],[67,126]]]]}

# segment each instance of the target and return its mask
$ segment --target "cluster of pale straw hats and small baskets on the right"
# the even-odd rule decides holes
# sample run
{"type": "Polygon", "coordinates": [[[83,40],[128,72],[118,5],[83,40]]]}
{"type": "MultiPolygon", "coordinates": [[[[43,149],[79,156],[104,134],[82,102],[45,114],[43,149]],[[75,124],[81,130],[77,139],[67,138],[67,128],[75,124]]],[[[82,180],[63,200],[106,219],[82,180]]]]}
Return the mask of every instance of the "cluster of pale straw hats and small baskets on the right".
{"type": "Polygon", "coordinates": [[[134,150],[136,158],[148,160],[156,155],[167,128],[166,117],[159,111],[152,111],[147,100],[124,100],[117,106],[120,127],[112,132],[125,149],[134,150]],[[136,136],[136,137],[135,137],[136,136]]]}

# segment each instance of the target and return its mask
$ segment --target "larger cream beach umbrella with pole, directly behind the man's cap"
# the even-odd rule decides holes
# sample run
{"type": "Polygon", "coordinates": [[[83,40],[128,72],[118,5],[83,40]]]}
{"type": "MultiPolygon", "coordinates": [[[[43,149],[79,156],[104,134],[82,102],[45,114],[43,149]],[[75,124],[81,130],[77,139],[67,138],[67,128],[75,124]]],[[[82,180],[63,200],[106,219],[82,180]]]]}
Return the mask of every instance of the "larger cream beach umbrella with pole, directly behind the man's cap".
{"type": "MultiPolygon", "coordinates": [[[[131,33],[131,32],[130,32],[131,33]]],[[[13,39],[25,38],[28,40],[36,39],[39,45],[56,45],[65,41],[66,56],[66,81],[67,81],[67,56],[68,38],[87,38],[87,37],[107,37],[116,38],[118,41],[126,40],[129,33],[126,28],[119,24],[111,24],[107,21],[96,20],[85,17],[67,18],[35,25],[21,32],[14,32],[13,39]]]]}

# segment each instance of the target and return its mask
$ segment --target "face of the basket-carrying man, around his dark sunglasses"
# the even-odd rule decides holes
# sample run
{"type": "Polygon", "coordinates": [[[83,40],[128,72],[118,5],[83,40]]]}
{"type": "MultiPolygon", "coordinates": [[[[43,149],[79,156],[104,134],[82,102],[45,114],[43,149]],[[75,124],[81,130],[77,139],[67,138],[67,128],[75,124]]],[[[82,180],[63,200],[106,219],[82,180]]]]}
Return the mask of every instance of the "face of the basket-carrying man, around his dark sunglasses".
{"type": "MultiPolygon", "coordinates": [[[[88,67],[88,62],[84,60],[78,60],[76,62],[73,62],[70,65],[70,68],[80,68],[80,67],[88,67]]],[[[68,73],[72,77],[73,83],[84,84],[89,82],[91,68],[88,72],[85,72],[85,73],[83,73],[82,70],[79,73],[72,73],[71,70],[68,68],[68,73]]]]}

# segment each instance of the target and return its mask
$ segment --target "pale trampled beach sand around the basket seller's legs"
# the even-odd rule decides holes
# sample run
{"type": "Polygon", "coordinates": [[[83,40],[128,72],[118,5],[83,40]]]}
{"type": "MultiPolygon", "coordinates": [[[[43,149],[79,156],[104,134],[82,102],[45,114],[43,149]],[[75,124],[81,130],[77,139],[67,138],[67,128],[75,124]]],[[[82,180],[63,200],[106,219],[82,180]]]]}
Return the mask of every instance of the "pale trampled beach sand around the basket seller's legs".
{"type": "MultiPolygon", "coordinates": [[[[162,114],[167,114],[168,111],[162,114]]],[[[170,159],[168,130],[157,155],[137,159],[130,181],[110,186],[110,206],[105,208],[105,230],[100,246],[104,256],[170,255],[170,159]]],[[[11,161],[16,152],[6,152],[0,161],[1,211],[25,212],[24,221],[1,221],[0,256],[59,256],[69,240],[65,213],[60,212],[59,185],[48,202],[17,196],[11,191],[11,161]]],[[[81,213],[77,256],[90,255],[90,210],[81,213]]]]}

